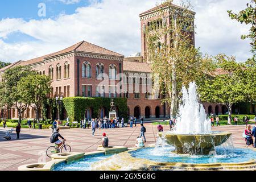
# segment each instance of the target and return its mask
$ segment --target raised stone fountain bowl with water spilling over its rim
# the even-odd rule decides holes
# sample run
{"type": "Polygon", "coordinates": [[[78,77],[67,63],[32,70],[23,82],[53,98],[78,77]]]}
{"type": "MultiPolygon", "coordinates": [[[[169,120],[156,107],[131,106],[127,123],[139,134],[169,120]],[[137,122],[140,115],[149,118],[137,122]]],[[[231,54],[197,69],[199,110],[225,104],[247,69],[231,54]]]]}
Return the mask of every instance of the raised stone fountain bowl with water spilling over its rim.
{"type": "Polygon", "coordinates": [[[232,133],[210,133],[210,134],[174,134],[159,133],[160,138],[175,147],[177,154],[209,155],[214,147],[225,143],[232,133]]]}

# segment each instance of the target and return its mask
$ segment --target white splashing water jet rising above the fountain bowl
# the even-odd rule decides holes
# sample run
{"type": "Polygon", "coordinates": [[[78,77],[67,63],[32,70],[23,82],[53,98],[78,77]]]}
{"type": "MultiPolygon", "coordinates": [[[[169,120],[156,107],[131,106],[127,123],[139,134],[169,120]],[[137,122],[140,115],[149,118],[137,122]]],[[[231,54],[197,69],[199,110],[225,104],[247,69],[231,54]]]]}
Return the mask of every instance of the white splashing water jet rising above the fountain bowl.
{"type": "Polygon", "coordinates": [[[183,104],[180,105],[180,116],[177,118],[174,130],[175,134],[207,134],[211,133],[210,120],[207,120],[204,106],[197,100],[196,83],[191,82],[188,90],[182,87],[183,104]]]}

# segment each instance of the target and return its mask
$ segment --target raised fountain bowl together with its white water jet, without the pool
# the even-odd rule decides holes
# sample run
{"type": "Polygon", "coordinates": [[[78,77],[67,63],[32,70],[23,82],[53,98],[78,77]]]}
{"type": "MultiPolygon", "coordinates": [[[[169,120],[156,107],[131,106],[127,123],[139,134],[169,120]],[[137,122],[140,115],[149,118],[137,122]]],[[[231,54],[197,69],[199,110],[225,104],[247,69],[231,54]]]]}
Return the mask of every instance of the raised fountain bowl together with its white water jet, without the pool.
{"type": "Polygon", "coordinates": [[[209,155],[215,147],[225,143],[231,133],[212,132],[202,104],[197,101],[196,84],[191,82],[188,90],[183,86],[183,104],[179,108],[179,117],[174,130],[159,133],[159,137],[175,146],[177,154],[209,155]]]}

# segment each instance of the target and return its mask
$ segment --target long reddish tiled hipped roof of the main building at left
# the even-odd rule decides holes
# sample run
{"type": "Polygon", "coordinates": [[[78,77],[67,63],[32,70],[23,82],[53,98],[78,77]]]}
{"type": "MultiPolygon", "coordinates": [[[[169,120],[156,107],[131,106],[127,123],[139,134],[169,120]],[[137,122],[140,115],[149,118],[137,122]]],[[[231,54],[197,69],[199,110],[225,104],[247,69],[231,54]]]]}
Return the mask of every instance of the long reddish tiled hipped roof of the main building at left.
{"type": "Polygon", "coordinates": [[[13,64],[8,65],[7,67],[4,67],[2,69],[0,69],[1,71],[5,71],[8,68],[13,67],[14,65],[22,65],[22,66],[26,66],[26,65],[32,65],[32,64],[36,64],[36,63],[40,63],[42,61],[44,61],[44,59],[51,59],[52,57],[56,57],[65,53],[69,53],[69,52],[85,52],[85,53],[94,53],[94,54],[100,54],[100,55],[107,55],[107,56],[117,56],[117,57],[125,57],[119,53],[110,51],[108,49],[102,48],[100,46],[96,46],[92,43],[88,43],[85,42],[84,40],[76,43],[75,45],[65,48],[61,51],[57,51],[57,52],[53,52],[53,53],[49,53],[48,55],[44,55],[44,56],[40,56],[40,57],[36,57],[34,59],[31,60],[27,60],[27,61],[17,61],[13,64]]]}

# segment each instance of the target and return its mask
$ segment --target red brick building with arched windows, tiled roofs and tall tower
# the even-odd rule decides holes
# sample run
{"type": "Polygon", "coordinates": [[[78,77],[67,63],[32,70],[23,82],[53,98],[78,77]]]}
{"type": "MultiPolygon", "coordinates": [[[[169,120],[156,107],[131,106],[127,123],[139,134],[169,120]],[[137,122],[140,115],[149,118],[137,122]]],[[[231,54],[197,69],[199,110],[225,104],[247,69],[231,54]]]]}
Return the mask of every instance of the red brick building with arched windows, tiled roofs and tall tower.
{"type": "MultiPolygon", "coordinates": [[[[173,5],[174,8],[180,8],[173,5]]],[[[170,114],[167,104],[161,103],[159,92],[152,86],[152,71],[150,60],[147,58],[146,33],[144,29],[152,22],[156,27],[166,23],[170,26],[170,15],[166,11],[166,18],[159,16],[159,7],[154,7],[139,15],[141,18],[142,53],[130,57],[109,51],[108,49],[82,41],[71,47],[49,55],[37,57],[27,61],[17,61],[0,69],[1,75],[6,69],[18,65],[29,66],[40,75],[52,78],[50,97],[126,97],[127,113],[137,118],[166,118],[170,114]]],[[[192,39],[195,35],[192,35],[192,39]]],[[[168,43],[170,38],[163,38],[168,43]]],[[[221,104],[204,103],[208,114],[224,114],[227,109],[221,104]]],[[[92,111],[86,110],[86,117],[90,118],[92,111]]],[[[254,108],[255,112],[255,108],[254,108]]],[[[1,111],[3,113],[3,111],[1,111]]],[[[3,115],[3,114],[2,114],[3,115]]],[[[102,109],[101,115],[108,115],[102,109]]],[[[15,109],[9,109],[7,118],[18,118],[15,109]]],[[[34,108],[28,108],[22,118],[35,118],[34,108]]]]}

